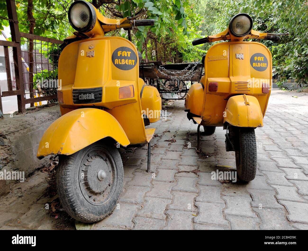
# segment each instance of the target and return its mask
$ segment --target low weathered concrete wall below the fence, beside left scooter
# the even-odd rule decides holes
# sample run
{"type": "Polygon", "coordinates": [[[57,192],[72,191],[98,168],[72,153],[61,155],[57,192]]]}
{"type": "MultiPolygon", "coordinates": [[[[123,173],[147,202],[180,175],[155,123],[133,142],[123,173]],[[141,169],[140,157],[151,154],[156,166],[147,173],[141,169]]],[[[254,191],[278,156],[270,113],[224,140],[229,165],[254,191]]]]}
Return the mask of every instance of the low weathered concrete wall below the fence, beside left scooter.
{"type": "MultiPolygon", "coordinates": [[[[49,157],[39,160],[36,152],[43,133],[59,117],[59,106],[53,105],[0,119],[0,171],[24,171],[27,177],[47,164],[49,157]]],[[[10,182],[16,181],[0,180],[0,195],[8,193],[10,182]]]]}

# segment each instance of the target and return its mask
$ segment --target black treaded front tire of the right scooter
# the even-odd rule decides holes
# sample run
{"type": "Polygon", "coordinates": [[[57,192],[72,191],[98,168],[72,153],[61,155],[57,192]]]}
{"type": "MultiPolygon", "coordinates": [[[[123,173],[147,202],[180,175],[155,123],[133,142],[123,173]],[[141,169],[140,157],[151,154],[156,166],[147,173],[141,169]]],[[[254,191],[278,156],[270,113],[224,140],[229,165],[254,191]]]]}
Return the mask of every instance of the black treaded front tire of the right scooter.
{"type": "Polygon", "coordinates": [[[237,176],[248,182],[256,177],[257,172],[257,142],[254,128],[240,128],[239,143],[235,150],[237,176]]]}

